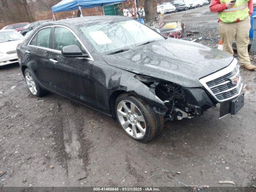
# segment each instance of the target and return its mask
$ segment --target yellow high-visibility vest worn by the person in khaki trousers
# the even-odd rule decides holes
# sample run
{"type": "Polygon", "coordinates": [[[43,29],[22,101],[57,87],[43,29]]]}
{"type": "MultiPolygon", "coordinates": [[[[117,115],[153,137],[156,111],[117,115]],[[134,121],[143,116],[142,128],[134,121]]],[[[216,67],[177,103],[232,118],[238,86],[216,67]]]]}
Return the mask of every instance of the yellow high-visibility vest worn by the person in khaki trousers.
{"type": "MultiPolygon", "coordinates": [[[[219,19],[224,23],[233,23],[247,19],[249,17],[248,1],[236,0],[236,4],[232,8],[218,12],[219,19]]],[[[220,3],[227,2],[230,2],[230,0],[220,0],[220,3]]]]}

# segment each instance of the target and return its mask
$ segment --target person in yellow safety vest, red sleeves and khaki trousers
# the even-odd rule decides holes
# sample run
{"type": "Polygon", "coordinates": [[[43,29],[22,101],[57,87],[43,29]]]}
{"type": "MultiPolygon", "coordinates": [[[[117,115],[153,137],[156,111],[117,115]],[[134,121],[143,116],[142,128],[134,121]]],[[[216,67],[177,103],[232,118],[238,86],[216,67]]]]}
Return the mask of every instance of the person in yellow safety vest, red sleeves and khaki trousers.
{"type": "Polygon", "coordinates": [[[250,15],[253,12],[252,0],[211,0],[211,12],[218,12],[219,33],[223,50],[234,54],[232,44],[236,40],[236,48],[241,66],[255,70],[248,54],[250,15]]]}

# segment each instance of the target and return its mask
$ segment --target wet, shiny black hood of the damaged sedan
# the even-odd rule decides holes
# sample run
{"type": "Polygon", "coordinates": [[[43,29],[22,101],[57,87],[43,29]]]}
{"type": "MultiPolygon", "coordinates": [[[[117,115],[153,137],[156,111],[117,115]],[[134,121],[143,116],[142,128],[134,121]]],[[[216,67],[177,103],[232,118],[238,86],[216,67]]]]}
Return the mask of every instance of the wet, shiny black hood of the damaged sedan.
{"type": "Polygon", "coordinates": [[[175,38],[102,58],[111,66],[190,88],[201,87],[200,78],[225,68],[234,59],[223,51],[175,38]]]}

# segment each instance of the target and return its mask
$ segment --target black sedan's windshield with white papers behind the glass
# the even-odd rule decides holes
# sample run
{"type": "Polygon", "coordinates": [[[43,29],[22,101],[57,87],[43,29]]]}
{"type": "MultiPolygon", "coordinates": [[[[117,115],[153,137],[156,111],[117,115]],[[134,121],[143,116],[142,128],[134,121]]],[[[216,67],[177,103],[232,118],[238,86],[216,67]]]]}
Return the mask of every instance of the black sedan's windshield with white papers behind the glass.
{"type": "Polygon", "coordinates": [[[104,54],[134,48],[163,36],[135,20],[94,22],[80,27],[94,48],[104,54]]]}

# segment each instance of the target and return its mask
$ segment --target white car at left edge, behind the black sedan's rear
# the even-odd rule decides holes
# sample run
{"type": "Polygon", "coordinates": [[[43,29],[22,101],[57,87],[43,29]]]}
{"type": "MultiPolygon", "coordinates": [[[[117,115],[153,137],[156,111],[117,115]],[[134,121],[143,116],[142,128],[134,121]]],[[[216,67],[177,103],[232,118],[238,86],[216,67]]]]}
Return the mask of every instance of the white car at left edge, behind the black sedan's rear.
{"type": "Polygon", "coordinates": [[[24,39],[15,30],[0,30],[0,66],[18,62],[16,48],[24,39]]]}

